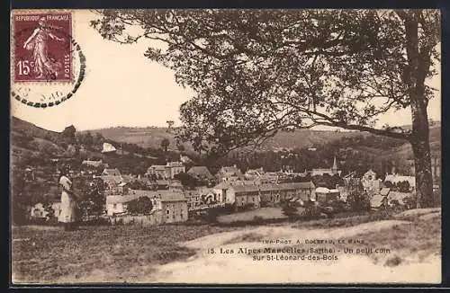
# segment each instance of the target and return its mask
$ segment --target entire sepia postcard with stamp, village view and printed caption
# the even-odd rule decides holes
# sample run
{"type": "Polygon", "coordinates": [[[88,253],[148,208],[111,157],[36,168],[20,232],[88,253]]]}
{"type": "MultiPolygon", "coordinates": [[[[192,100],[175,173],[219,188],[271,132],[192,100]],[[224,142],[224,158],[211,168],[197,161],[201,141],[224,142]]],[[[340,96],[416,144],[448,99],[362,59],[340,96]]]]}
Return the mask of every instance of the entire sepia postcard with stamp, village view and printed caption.
{"type": "Polygon", "coordinates": [[[12,11],[13,283],[440,283],[440,19],[12,11]]]}

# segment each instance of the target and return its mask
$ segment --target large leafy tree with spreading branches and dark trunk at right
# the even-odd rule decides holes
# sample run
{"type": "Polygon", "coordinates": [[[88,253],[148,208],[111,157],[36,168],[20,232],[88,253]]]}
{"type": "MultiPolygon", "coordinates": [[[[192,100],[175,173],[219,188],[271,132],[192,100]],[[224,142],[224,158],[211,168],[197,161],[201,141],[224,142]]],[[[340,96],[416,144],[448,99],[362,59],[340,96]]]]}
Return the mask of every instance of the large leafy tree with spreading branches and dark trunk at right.
{"type": "Polygon", "coordinates": [[[197,93],[180,108],[178,134],[197,151],[223,153],[317,125],[400,138],[413,149],[418,207],[430,205],[426,80],[440,60],[438,10],[100,13],[91,24],[103,38],[154,40],[144,55],[197,93]],[[133,25],[140,34],[129,34],[133,25]],[[412,129],[374,127],[383,113],[405,108],[412,129]]]}

